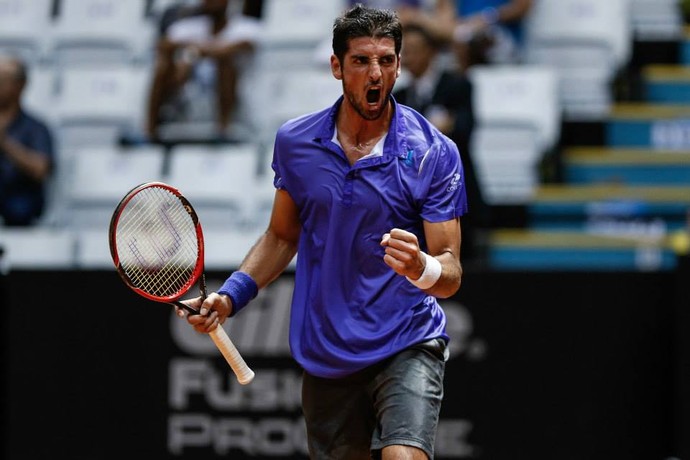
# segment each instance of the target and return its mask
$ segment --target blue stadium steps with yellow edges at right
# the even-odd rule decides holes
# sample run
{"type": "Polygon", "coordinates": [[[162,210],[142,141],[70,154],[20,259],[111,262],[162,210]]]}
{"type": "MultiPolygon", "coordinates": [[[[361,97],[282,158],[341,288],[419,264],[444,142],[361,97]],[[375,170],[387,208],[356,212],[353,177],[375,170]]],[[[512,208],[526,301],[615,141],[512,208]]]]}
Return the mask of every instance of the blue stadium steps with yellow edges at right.
{"type": "Polygon", "coordinates": [[[635,41],[606,117],[564,124],[558,183],[536,188],[523,226],[489,231],[489,266],[673,270],[690,251],[690,27],[661,45],[635,41]]]}

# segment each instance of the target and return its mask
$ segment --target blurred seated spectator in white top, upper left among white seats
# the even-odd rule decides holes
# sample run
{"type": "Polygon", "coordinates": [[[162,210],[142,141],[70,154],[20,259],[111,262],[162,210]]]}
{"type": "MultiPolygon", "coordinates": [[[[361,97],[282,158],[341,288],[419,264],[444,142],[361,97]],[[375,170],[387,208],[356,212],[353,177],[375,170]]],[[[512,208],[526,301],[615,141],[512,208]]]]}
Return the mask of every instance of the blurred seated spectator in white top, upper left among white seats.
{"type": "Polygon", "coordinates": [[[151,139],[159,138],[163,123],[199,121],[194,120],[199,113],[195,106],[205,102],[217,134],[223,136],[229,128],[238,106],[238,79],[261,32],[261,2],[247,0],[239,10],[235,6],[240,1],[182,2],[162,13],[148,101],[146,130],[151,139]]]}

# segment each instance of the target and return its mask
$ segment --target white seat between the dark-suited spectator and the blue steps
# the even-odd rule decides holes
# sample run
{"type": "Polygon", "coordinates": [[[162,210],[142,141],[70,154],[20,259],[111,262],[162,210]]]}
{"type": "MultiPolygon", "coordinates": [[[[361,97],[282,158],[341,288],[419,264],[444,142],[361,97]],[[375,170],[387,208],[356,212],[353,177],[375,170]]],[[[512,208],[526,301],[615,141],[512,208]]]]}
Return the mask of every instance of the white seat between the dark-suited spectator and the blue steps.
{"type": "Polygon", "coordinates": [[[538,65],[476,65],[468,76],[477,120],[470,154],[485,199],[524,203],[539,184],[539,161],[559,140],[558,76],[538,65]]]}

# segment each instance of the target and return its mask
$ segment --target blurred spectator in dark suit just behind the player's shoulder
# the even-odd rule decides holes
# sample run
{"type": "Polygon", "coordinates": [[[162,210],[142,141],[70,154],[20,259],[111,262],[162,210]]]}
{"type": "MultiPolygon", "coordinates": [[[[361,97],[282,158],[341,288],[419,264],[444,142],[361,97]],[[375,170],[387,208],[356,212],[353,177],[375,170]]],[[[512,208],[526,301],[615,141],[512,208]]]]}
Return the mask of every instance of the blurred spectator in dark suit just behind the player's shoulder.
{"type": "Polygon", "coordinates": [[[469,213],[462,217],[462,257],[471,259],[476,255],[475,234],[486,219],[486,206],[469,151],[474,128],[472,85],[465,75],[443,65],[440,49],[427,29],[406,26],[401,64],[409,78],[407,84],[393,91],[393,96],[424,115],[460,149],[469,205],[469,213]]]}

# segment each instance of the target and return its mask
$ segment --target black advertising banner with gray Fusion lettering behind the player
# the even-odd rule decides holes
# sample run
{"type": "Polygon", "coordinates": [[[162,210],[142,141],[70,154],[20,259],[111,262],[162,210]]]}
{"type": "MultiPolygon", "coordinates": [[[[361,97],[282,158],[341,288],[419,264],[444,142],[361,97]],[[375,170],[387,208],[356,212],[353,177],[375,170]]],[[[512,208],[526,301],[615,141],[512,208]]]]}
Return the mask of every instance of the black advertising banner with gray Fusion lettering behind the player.
{"type": "MultiPolygon", "coordinates": [[[[209,273],[209,290],[225,276],[209,273]]],[[[3,282],[5,458],[308,458],[291,274],[225,324],[256,372],[248,385],[208,336],[114,272],[3,282]]],[[[436,458],[670,457],[688,420],[684,289],[666,272],[466,273],[442,301],[452,341],[436,458]]]]}

